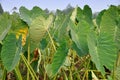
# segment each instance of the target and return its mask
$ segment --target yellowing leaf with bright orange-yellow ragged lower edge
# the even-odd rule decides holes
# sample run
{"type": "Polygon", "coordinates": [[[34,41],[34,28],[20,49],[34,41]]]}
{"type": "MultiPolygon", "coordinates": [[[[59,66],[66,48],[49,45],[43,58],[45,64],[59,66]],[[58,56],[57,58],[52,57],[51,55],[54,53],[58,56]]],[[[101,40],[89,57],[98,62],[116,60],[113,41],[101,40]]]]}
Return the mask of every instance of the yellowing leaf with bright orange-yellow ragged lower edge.
{"type": "Polygon", "coordinates": [[[28,25],[20,19],[18,13],[13,13],[11,16],[12,27],[10,32],[14,32],[16,34],[17,39],[20,35],[22,35],[22,45],[24,46],[26,43],[26,37],[28,34],[28,25]]]}

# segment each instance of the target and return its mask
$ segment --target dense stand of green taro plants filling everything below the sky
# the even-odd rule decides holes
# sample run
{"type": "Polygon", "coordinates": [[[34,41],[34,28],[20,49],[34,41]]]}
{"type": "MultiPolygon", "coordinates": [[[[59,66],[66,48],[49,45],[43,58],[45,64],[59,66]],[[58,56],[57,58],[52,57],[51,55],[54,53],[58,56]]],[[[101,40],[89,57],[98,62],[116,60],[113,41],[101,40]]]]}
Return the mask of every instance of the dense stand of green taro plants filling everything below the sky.
{"type": "Polygon", "coordinates": [[[0,15],[1,80],[120,80],[120,7],[0,15]]]}

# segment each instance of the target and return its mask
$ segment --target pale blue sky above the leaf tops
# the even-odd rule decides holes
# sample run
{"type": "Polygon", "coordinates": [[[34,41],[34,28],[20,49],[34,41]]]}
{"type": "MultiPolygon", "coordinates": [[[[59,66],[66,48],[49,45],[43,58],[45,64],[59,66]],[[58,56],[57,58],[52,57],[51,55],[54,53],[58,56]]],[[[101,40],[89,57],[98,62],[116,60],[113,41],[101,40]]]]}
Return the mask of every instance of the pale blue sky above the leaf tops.
{"type": "Polygon", "coordinates": [[[12,12],[14,7],[17,11],[21,6],[32,9],[34,6],[39,6],[42,9],[49,9],[50,11],[60,9],[63,10],[70,4],[73,7],[77,5],[81,8],[84,5],[89,5],[93,12],[99,12],[107,9],[110,5],[120,5],[120,0],[0,0],[4,11],[12,12]]]}

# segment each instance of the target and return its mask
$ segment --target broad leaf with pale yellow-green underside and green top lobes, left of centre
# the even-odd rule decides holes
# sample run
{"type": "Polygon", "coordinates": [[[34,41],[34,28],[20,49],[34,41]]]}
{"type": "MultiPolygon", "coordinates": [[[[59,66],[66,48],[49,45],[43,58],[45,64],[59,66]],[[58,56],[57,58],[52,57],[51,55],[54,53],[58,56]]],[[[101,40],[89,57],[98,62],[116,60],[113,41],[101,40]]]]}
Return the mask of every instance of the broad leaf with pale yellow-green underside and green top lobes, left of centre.
{"type": "Polygon", "coordinates": [[[30,39],[32,43],[39,43],[48,27],[53,21],[53,15],[49,16],[40,8],[34,7],[28,10],[20,8],[20,17],[29,25],[30,39]]]}

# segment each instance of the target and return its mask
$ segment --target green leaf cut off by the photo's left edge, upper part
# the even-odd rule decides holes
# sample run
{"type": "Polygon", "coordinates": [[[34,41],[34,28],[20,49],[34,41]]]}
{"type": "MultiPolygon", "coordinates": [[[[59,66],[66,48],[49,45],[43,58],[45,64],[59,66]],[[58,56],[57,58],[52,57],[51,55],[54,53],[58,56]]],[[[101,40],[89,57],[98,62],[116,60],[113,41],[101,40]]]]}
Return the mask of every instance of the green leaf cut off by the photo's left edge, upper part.
{"type": "Polygon", "coordinates": [[[10,15],[8,13],[4,13],[0,16],[0,41],[2,41],[8,31],[11,28],[11,20],[10,15]]]}

